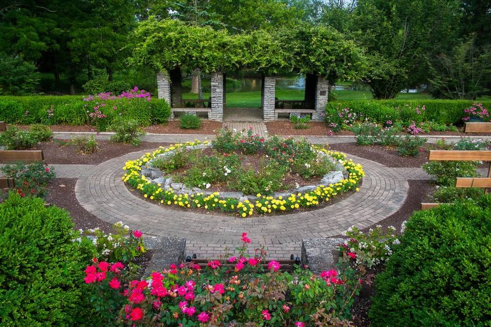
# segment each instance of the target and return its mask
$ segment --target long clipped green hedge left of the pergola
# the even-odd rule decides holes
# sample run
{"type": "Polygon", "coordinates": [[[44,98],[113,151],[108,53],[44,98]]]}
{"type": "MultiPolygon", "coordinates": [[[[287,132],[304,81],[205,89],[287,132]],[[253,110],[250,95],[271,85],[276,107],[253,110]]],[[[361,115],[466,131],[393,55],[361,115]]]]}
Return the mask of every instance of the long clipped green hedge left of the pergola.
{"type": "Polygon", "coordinates": [[[83,101],[82,96],[26,96],[0,97],[0,121],[10,124],[68,124],[90,123],[88,112],[96,102],[104,102],[102,113],[108,121],[114,118],[113,107],[123,112],[125,118],[136,119],[142,126],[164,123],[170,116],[170,106],[162,99],[145,98],[83,101]],[[48,110],[53,109],[49,116],[48,110]]]}

